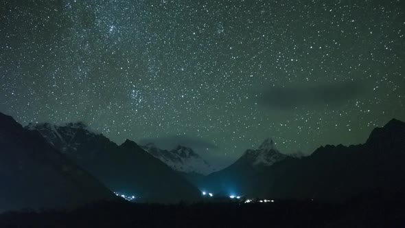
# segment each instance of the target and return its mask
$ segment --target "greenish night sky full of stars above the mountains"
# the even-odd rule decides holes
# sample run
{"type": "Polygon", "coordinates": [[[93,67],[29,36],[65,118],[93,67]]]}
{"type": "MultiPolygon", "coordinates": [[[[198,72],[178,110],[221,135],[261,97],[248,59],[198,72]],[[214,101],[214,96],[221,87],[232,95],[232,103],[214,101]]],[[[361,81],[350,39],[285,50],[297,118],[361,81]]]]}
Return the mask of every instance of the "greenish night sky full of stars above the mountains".
{"type": "Polygon", "coordinates": [[[405,120],[402,0],[3,0],[0,111],[181,142],[218,166],[405,120]]]}

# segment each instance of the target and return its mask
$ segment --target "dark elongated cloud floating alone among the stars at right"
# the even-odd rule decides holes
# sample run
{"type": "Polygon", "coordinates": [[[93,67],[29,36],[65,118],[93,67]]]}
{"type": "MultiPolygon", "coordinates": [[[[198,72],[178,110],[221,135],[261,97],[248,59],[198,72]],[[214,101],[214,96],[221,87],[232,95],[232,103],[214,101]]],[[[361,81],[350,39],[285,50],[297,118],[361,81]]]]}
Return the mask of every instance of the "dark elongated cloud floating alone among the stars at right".
{"type": "Polygon", "coordinates": [[[299,107],[338,106],[364,93],[360,82],[271,87],[259,97],[259,104],[277,110],[299,107]]]}

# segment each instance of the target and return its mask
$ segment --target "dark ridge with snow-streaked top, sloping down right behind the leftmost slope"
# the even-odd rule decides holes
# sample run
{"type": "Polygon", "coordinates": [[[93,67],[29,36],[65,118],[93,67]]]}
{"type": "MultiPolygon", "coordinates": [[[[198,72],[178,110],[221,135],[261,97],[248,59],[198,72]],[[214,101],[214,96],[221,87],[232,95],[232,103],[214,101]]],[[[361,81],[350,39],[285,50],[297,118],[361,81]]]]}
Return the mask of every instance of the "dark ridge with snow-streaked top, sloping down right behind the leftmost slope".
{"type": "Polygon", "coordinates": [[[30,124],[67,157],[88,170],[118,194],[135,196],[136,202],[176,203],[196,201],[200,191],[183,176],[126,140],[118,146],[83,123],[54,126],[30,124]]]}

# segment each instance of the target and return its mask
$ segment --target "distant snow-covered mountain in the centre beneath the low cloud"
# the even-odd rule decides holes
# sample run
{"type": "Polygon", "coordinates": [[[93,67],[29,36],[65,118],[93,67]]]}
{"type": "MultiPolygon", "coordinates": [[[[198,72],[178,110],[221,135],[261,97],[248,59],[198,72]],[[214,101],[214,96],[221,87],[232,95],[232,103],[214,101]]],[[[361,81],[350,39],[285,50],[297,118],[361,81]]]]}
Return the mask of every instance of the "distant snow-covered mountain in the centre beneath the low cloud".
{"type": "Polygon", "coordinates": [[[157,159],[163,161],[167,166],[180,172],[196,172],[198,174],[207,175],[215,171],[215,169],[201,158],[200,155],[194,152],[192,148],[177,146],[172,150],[163,150],[157,148],[154,144],[146,144],[142,148],[157,159]]]}

